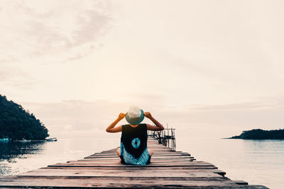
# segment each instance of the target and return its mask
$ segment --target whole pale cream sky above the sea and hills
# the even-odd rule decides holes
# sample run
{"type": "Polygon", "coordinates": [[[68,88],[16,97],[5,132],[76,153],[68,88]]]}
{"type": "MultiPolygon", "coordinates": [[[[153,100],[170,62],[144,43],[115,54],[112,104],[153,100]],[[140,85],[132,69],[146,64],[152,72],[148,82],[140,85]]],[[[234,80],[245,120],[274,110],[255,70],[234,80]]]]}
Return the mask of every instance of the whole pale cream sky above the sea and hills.
{"type": "Polygon", "coordinates": [[[180,137],[283,128],[283,1],[0,2],[0,94],[53,137],[118,137],[130,105],[180,137]]]}

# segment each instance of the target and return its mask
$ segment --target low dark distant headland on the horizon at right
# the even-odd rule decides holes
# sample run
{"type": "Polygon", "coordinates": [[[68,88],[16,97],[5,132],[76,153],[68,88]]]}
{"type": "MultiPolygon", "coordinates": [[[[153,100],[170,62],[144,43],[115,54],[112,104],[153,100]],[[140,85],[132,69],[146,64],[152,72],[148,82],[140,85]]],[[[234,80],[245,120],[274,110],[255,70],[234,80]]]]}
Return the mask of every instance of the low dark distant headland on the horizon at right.
{"type": "Polygon", "coordinates": [[[246,130],[227,139],[284,139],[284,130],[246,130]]]}

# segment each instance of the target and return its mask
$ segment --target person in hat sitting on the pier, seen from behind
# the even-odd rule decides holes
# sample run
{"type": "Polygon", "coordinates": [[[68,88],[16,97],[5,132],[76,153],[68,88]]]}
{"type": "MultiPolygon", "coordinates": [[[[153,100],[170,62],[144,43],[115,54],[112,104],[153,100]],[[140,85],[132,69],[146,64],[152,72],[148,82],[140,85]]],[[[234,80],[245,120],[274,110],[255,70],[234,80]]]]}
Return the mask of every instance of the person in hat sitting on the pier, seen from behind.
{"type": "Polygon", "coordinates": [[[150,164],[153,150],[148,150],[147,147],[147,130],[159,131],[164,130],[164,127],[153,118],[151,113],[144,113],[143,110],[137,106],[131,106],[129,111],[125,114],[120,113],[119,118],[107,127],[107,132],[122,132],[120,149],[116,151],[121,158],[121,164],[150,164]],[[157,126],[141,123],[144,116],[157,126]],[[120,120],[124,119],[124,117],[129,124],[114,127],[120,120]]]}

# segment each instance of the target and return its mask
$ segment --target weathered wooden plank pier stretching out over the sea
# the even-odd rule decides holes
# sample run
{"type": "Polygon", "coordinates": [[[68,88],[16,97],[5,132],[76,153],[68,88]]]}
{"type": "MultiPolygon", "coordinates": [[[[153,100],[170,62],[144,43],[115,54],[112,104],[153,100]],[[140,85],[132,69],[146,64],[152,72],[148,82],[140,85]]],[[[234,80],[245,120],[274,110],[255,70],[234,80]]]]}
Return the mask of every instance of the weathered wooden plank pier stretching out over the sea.
{"type": "Polygon", "coordinates": [[[266,188],[231,181],[225,172],[190,154],[148,138],[151,164],[120,164],[116,148],[77,161],[54,164],[16,176],[1,176],[0,188],[266,188]]]}

